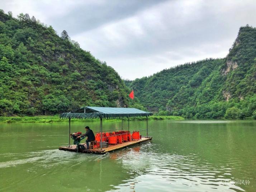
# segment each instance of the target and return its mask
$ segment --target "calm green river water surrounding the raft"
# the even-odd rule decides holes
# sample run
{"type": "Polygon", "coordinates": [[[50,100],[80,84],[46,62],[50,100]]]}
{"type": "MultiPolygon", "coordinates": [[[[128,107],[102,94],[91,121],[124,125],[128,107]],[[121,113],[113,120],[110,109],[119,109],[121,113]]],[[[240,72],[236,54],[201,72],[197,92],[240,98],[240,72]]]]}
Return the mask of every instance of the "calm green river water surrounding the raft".
{"type": "MultiPolygon", "coordinates": [[[[86,125],[99,131],[93,121],[71,123],[71,132],[86,125]]],[[[120,127],[103,121],[103,130],[120,127]]],[[[0,191],[256,191],[256,121],[148,127],[151,142],[96,155],[58,150],[68,143],[68,123],[0,124],[0,191]]],[[[145,128],[130,121],[130,130],[145,128]]]]}

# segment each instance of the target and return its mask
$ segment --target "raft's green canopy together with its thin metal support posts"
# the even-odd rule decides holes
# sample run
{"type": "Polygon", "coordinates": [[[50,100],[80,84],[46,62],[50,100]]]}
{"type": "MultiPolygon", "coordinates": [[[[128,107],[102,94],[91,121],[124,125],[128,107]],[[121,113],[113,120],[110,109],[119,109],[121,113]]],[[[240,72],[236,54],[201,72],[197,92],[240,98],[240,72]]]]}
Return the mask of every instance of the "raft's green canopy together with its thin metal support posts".
{"type": "Polygon", "coordinates": [[[71,126],[70,121],[72,118],[100,119],[100,149],[102,150],[102,121],[103,119],[122,119],[122,130],[123,130],[123,119],[128,118],[128,131],[130,130],[130,117],[146,117],[147,119],[147,137],[148,137],[148,116],[153,115],[151,112],[142,111],[135,108],[117,108],[117,107],[81,107],[80,109],[70,111],[68,113],[60,114],[60,118],[68,118],[69,134],[68,134],[68,147],[70,147],[70,132],[71,126]]]}

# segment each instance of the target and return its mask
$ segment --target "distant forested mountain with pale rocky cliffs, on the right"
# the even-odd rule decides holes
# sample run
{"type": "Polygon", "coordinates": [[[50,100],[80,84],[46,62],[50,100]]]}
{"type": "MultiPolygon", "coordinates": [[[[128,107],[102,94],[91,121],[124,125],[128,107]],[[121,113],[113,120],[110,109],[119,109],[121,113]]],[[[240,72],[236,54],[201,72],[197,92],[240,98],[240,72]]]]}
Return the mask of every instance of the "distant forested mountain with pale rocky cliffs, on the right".
{"type": "Polygon", "coordinates": [[[256,118],[256,28],[241,27],[229,54],[125,81],[144,107],[192,118],[256,118]]]}

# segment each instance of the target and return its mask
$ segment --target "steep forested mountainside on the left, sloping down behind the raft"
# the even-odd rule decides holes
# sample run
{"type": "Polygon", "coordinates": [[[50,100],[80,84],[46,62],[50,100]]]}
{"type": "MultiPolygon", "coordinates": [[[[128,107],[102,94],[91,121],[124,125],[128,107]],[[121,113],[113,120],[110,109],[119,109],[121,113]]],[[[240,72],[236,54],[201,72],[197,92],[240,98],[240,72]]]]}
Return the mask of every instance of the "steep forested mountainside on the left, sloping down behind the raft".
{"type": "Polygon", "coordinates": [[[81,106],[141,107],[112,67],[66,31],[0,10],[0,115],[57,114],[81,106]]]}

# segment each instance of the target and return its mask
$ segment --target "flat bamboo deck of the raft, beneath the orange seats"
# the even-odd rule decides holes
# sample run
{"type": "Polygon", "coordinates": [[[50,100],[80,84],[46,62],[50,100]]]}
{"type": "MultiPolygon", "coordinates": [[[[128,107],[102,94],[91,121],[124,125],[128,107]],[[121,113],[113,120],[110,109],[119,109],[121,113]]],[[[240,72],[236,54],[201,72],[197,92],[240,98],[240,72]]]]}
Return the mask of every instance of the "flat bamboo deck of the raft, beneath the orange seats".
{"type": "MultiPolygon", "coordinates": [[[[80,153],[105,154],[105,153],[108,153],[108,152],[112,152],[114,150],[122,149],[122,148],[125,148],[125,147],[129,147],[129,146],[136,145],[136,144],[139,144],[139,143],[144,143],[144,142],[151,141],[151,140],[152,140],[152,137],[143,137],[142,136],[141,140],[132,140],[132,141],[126,141],[126,142],[121,143],[121,144],[109,145],[106,148],[102,148],[102,150],[100,150],[100,147],[99,147],[99,149],[94,149],[94,150],[93,149],[84,149],[84,150],[80,149],[79,152],[80,153]]],[[[81,143],[81,144],[83,144],[83,143],[81,143]]],[[[70,147],[59,147],[59,150],[77,152],[76,145],[70,145],[70,147]]]]}

